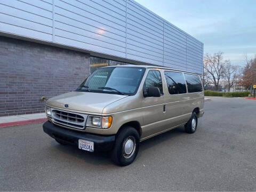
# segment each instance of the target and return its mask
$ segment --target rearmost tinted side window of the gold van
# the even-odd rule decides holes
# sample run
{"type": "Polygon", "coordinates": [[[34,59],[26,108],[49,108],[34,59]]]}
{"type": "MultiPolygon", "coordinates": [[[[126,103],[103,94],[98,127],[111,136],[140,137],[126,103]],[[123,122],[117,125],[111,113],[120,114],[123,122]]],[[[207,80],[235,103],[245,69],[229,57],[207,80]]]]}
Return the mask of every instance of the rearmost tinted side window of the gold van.
{"type": "Polygon", "coordinates": [[[202,83],[201,79],[198,75],[185,74],[185,78],[187,81],[188,92],[202,92],[202,83]]]}

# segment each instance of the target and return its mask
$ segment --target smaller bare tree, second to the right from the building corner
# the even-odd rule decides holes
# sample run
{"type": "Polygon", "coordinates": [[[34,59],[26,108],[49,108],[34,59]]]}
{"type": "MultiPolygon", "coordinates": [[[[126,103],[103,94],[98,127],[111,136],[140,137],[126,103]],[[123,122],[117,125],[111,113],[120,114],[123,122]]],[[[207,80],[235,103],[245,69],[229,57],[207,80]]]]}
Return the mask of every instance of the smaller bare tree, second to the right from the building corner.
{"type": "Polygon", "coordinates": [[[227,91],[230,91],[231,86],[237,81],[239,76],[239,67],[231,65],[229,60],[226,60],[223,77],[227,81],[227,91]]]}

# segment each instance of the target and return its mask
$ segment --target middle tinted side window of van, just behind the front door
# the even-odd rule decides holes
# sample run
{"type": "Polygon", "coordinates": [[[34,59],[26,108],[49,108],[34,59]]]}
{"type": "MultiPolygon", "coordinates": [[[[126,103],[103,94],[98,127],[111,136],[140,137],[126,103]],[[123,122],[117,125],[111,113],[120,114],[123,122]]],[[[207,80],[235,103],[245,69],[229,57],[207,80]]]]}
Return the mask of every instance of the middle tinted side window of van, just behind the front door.
{"type": "Polygon", "coordinates": [[[187,93],[186,83],[182,73],[164,71],[164,76],[170,94],[187,93]]]}

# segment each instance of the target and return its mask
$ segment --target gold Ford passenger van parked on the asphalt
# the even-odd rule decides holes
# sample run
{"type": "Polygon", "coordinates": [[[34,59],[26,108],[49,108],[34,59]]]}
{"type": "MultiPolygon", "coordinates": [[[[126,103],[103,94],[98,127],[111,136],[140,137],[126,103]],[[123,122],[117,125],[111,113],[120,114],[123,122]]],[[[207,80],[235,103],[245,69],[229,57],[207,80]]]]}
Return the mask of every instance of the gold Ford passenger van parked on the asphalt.
{"type": "Polygon", "coordinates": [[[86,151],[111,150],[113,161],[129,165],[139,142],[185,125],[197,129],[204,114],[201,78],[155,66],[111,66],[95,70],[72,92],[46,102],[44,132],[62,145],[86,151]]]}

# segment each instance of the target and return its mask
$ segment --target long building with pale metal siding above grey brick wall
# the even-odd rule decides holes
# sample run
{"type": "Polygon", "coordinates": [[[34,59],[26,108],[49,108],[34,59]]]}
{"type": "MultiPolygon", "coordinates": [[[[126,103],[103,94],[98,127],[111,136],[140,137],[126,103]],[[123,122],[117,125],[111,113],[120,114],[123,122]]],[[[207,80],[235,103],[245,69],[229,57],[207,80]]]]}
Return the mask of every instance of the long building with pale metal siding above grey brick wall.
{"type": "Polygon", "coordinates": [[[203,43],[133,0],[2,0],[0,116],[41,113],[95,69],[150,64],[203,73],[203,43]]]}

